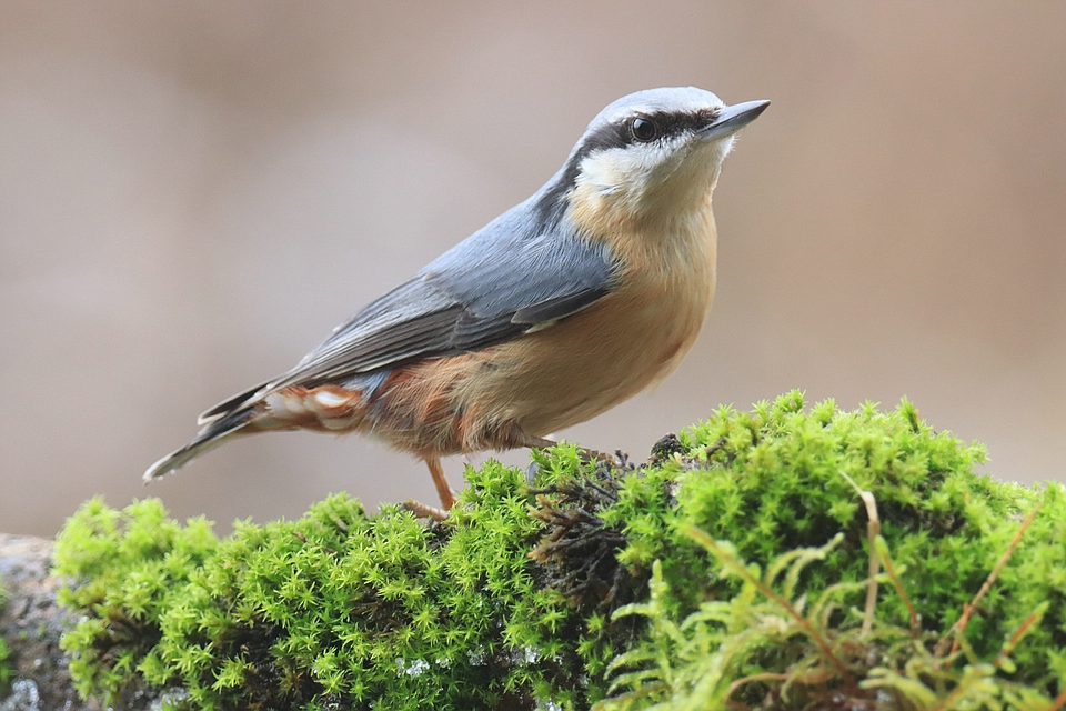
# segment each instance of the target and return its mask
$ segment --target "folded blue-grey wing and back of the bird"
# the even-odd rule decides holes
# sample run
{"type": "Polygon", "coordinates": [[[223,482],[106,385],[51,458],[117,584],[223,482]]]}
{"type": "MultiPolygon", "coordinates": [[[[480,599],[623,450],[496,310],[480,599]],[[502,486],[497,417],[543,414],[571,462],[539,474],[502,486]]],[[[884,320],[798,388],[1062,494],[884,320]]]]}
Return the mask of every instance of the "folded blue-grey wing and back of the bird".
{"type": "Polygon", "coordinates": [[[606,246],[557,226],[529,223],[527,207],[500,216],[338,327],[291,371],[212,408],[201,422],[288,385],[314,387],[479,350],[544,328],[609,294],[615,263],[606,246]]]}

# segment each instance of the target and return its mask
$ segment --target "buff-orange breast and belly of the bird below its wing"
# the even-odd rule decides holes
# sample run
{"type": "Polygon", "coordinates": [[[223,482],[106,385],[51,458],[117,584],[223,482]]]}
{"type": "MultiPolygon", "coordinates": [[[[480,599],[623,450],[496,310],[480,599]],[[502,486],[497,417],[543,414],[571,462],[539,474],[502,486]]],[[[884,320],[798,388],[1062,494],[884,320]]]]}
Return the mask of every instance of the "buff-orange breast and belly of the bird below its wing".
{"type": "MultiPolygon", "coordinates": [[[[707,211],[710,216],[710,210],[707,211]]],[[[486,421],[544,437],[672,373],[714,293],[714,222],[627,256],[617,291],[543,331],[472,354],[454,394],[486,421]]]]}

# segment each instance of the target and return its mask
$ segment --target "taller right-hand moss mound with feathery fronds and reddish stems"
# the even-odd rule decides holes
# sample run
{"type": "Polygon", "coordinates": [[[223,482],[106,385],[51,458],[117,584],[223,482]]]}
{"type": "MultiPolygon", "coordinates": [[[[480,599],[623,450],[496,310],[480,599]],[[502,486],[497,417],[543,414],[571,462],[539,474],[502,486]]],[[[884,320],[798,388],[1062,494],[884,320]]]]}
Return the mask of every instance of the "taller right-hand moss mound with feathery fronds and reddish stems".
{"type": "Polygon", "coordinates": [[[652,585],[615,614],[650,628],[613,662],[617,693],[600,708],[1066,703],[1062,487],[976,475],[983,449],[906,401],[804,411],[790,393],[678,439],[683,452],[604,512],[625,522],[621,563],[652,585]],[[879,537],[856,488],[873,494],[879,537]],[[889,572],[866,613],[872,540],[889,572]]]}

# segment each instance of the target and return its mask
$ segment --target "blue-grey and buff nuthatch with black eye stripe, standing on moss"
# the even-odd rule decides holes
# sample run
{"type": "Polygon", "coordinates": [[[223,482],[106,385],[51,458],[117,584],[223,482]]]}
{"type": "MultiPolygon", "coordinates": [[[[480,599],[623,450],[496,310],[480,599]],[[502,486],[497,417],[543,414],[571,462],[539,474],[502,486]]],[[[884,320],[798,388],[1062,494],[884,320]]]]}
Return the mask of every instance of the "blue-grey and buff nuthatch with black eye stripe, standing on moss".
{"type": "Polygon", "coordinates": [[[446,512],[442,457],[552,445],[677,368],[714,296],[723,160],[768,106],[695,87],[609,104],[540,190],[203,412],[144,481],[248,434],[359,432],[423,460],[446,512]]]}

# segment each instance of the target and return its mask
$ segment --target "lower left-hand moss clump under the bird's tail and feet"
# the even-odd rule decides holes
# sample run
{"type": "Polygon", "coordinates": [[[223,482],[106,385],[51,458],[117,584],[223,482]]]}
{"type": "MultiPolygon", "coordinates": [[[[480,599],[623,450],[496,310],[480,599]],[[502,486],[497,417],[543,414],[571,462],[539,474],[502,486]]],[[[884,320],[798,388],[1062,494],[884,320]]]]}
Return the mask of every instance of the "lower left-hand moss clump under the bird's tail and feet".
{"type": "Polygon", "coordinates": [[[521,489],[490,463],[444,525],[334,495],[223,541],[168,522],[153,547],[130,541],[164,520],[158,501],[90,502],[57,545],[64,603],[91,611],[67,638],[71,671],[108,699],[140,675],[203,709],[529,707],[550,684],[581,698],[576,620],[536,584],[521,489]]]}

